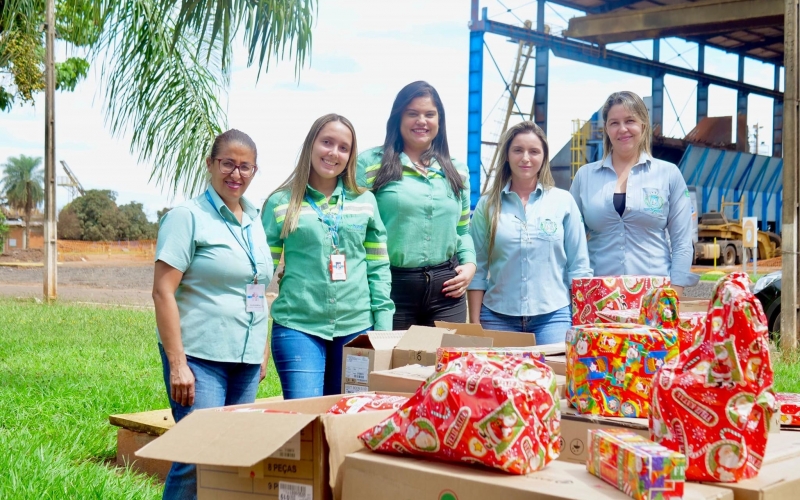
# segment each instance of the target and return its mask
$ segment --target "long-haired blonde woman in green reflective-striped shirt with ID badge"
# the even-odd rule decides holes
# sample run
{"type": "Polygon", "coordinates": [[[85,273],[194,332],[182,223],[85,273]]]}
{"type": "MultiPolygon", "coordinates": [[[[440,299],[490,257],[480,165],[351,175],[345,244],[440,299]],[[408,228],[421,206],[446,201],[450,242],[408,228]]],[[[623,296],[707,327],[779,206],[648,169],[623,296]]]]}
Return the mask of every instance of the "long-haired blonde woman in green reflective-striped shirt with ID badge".
{"type": "Polygon", "coordinates": [[[375,197],[356,185],[356,134],[328,114],[311,126],[297,166],[264,205],[275,267],[272,355],[285,399],[341,392],[342,347],[391,330],[386,230],[375,197]]]}

